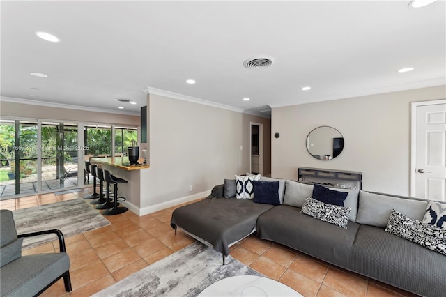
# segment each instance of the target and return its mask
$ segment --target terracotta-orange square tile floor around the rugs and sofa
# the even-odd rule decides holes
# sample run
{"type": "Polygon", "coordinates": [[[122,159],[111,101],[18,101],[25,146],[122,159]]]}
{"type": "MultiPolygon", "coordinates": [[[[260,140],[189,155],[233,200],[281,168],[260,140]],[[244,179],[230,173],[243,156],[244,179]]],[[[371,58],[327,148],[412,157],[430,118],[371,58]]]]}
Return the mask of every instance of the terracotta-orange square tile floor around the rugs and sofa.
{"type": "MultiPolygon", "coordinates": [[[[90,192],[91,189],[59,196],[33,195],[0,201],[0,208],[38,206],[77,199],[90,192]]],[[[141,217],[131,211],[107,216],[111,225],[67,237],[72,291],[65,292],[59,280],[42,296],[90,296],[190,245],[193,238],[180,232],[175,235],[170,227],[176,207],[141,217]]],[[[57,245],[47,243],[23,254],[54,252],[57,245]]],[[[231,256],[303,296],[415,296],[253,235],[234,245],[231,256]]]]}

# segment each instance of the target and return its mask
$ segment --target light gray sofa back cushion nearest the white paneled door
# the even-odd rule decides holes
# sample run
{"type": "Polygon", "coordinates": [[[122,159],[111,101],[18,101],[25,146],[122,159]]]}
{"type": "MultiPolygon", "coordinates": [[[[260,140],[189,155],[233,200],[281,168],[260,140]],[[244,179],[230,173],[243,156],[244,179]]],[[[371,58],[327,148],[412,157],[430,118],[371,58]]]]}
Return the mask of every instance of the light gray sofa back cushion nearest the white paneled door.
{"type": "Polygon", "coordinates": [[[360,190],[359,203],[356,222],[382,228],[387,226],[392,209],[421,221],[427,206],[427,201],[374,194],[363,190],[360,190]]]}

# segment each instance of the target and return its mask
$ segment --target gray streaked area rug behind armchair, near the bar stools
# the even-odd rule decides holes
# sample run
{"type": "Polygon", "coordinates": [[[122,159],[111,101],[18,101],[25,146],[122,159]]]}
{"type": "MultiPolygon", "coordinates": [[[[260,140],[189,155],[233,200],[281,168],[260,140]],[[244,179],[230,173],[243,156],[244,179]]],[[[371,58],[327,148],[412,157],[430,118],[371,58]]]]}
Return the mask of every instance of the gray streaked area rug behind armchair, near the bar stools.
{"type": "MultiPolygon", "coordinates": [[[[13,211],[17,234],[49,229],[59,229],[63,236],[72,236],[85,231],[105,227],[110,222],[84,199],[17,209],[13,211]]],[[[57,240],[55,234],[24,238],[22,250],[57,240]]]]}

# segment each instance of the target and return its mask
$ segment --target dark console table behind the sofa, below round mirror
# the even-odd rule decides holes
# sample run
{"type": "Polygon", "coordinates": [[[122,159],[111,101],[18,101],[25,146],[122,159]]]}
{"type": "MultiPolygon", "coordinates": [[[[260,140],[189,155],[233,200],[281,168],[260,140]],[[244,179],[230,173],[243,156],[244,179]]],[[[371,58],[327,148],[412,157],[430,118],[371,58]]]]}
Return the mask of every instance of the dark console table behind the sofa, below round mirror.
{"type": "Polygon", "coordinates": [[[357,181],[362,190],[362,172],[348,172],[345,170],[321,169],[310,167],[298,168],[298,181],[305,181],[305,177],[328,178],[342,181],[357,181]]]}

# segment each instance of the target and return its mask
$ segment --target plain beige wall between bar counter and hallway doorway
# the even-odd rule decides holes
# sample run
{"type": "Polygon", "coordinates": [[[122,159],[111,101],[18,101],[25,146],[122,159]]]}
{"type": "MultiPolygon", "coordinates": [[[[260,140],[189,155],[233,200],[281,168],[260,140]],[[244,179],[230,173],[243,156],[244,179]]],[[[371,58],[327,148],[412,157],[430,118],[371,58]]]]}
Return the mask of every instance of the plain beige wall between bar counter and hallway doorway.
{"type": "Polygon", "coordinates": [[[148,106],[150,168],[141,170],[141,208],[205,192],[246,173],[252,121],[263,123],[270,151],[270,119],[157,95],[148,96],[148,106]]]}

